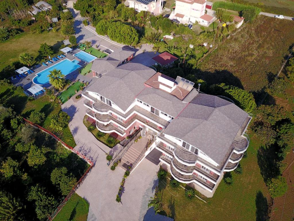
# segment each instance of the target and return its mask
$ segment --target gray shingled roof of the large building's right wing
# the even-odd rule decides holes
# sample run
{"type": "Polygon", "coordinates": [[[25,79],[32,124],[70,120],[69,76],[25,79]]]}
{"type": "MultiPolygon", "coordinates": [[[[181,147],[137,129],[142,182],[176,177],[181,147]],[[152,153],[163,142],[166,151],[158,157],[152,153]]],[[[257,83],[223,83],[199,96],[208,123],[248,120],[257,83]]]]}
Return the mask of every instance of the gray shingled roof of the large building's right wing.
{"type": "Polygon", "coordinates": [[[213,95],[198,94],[163,132],[220,164],[248,113],[213,95]]]}

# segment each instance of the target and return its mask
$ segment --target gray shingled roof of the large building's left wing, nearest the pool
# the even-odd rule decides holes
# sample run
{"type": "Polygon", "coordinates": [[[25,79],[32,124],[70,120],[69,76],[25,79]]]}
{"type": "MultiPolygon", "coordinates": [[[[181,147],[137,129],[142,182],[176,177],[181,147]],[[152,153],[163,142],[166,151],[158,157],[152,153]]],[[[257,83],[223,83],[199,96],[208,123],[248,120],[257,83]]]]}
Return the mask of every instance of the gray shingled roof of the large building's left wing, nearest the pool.
{"type": "Polygon", "coordinates": [[[123,111],[133,103],[144,88],[144,82],[156,73],[138,63],[126,63],[99,78],[87,88],[118,105],[123,111]]]}

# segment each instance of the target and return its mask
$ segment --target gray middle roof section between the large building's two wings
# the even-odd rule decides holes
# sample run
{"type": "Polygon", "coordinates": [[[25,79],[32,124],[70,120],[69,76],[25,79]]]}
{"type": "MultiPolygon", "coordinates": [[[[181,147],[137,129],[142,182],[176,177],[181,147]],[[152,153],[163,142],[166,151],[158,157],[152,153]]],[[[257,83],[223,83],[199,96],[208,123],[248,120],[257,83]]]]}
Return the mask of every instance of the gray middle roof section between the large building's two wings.
{"type": "Polygon", "coordinates": [[[187,105],[187,103],[182,102],[168,92],[156,88],[146,88],[136,98],[172,117],[178,116],[187,105]]]}

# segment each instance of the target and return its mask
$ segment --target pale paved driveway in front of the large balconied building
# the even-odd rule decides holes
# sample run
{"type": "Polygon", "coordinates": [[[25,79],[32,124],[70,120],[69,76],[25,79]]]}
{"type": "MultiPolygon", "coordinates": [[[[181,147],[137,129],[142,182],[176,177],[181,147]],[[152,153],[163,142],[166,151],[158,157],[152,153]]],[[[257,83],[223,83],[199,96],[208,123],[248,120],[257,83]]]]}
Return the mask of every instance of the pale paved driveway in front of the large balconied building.
{"type": "Polygon", "coordinates": [[[83,100],[84,98],[81,98],[74,103],[70,99],[61,108],[71,116],[69,127],[77,144],[75,149],[88,156],[95,164],[77,190],[77,194],[90,204],[88,221],[167,220],[167,217],[158,215],[156,219],[153,218],[154,213],[148,210],[148,201],[154,195],[154,189],[158,184],[156,171],[159,166],[146,159],[126,179],[122,202],[115,201],[124,170],[118,166],[115,171],[111,171],[107,166],[105,153],[108,153],[110,148],[97,141],[83,125],[87,109],[83,105],[83,100]]]}

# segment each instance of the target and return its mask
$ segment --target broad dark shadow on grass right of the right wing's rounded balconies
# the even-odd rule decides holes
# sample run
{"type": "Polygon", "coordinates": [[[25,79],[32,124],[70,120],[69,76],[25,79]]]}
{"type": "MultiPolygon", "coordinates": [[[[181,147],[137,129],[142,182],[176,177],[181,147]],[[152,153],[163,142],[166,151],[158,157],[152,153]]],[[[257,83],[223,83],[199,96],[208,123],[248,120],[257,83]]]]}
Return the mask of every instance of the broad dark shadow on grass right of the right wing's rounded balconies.
{"type": "Polygon", "coordinates": [[[257,163],[264,182],[280,174],[275,146],[261,146],[257,152],[257,163]]]}

